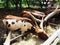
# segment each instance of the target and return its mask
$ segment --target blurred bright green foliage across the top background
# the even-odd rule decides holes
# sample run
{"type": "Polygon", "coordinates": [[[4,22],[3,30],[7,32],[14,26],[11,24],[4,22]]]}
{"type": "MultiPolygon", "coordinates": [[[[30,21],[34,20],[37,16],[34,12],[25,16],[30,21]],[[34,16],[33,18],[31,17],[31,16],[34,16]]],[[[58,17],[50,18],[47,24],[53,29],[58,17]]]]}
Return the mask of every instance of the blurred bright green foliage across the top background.
{"type": "MultiPolygon", "coordinates": [[[[40,3],[43,1],[45,0],[0,0],[0,8],[42,8],[40,3]]],[[[57,4],[60,5],[60,0],[57,4]]]]}

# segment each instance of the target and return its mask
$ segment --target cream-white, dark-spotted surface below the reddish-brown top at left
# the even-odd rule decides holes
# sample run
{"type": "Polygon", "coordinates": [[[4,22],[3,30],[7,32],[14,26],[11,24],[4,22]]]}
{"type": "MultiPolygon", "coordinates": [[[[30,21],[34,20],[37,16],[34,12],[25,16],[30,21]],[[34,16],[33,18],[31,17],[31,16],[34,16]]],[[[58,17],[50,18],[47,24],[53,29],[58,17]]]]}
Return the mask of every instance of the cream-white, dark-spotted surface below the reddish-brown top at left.
{"type": "Polygon", "coordinates": [[[4,25],[9,29],[9,30],[17,30],[17,29],[21,29],[21,32],[24,33],[25,31],[27,31],[28,29],[31,29],[32,24],[29,22],[22,22],[21,20],[19,20],[18,22],[16,22],[15,19],[7,19],[7,20],[3,20],[4,25]],[[10,27],[8,27],[8,25],[6,24],[6,21],[8,22],[8,25],[10,24],[10,27]],[[15,24],[12,24],[12,22],[14,22],[15,24]]]}

